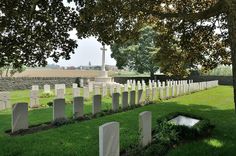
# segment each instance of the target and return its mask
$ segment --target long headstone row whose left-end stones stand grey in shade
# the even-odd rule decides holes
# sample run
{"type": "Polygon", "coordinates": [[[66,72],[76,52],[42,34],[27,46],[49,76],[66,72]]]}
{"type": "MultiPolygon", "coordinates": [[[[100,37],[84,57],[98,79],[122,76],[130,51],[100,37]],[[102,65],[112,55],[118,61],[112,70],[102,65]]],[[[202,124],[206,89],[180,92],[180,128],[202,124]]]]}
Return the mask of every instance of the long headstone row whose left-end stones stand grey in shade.
{"type": "MultiPolygon", "coordinates": [[[[183,83],[184,84],[184,83],[183,83]]],[[[177,85],[178,86],[178,85],[177,85]]],[[[182,85],[179,85],[182,86],[182,85]]],[[[200,83],[190,83],[187,84],[187,93],[192,93],[195,91],[212,88],[218,86],[218,81],[200,82],[200,83]]],[[[165,86],[166,87],[166,86],[165,86]]],[[[160,95],[162,94],[164,86],[160,87],[160,95]]],[[[177,87],[178,88],[178,87],[177,87]]],[[[181,87],[180,87],[181,88],[181,87]]],[[[182,87],[184,88],[184,87],[182,87]]],[[[152,93],[156,92],[156,88],[152,88],[152,93]]],[[[180,89],[181,90],[181,89],[180,89]]],[[[182,89],[184,90],[184,89],[182,89]]],[[[63,92],[64,93],[64,92],[63,92]]],[[[122,108],[125,109],[128,106],[133,106],[136,104],[147,104],[146,101],[143,102],[143,90],[138,90],[138,101],[136,102],[136,91],[131,90],[122,92],[122,108]],[[128,99],[130,101],[128,101],[128,99]]],[[[156,94],[152,95],[150,98],[150,88],[146,88],[146,99],[148,103],[156,99],[156,94]],[[148,98],[147,98],[148,97],[148,98]]],[[[146,100],[145,99],[145,100],[146,100]]],[[[119,110],[120,104],[120,93],[114,92],[112,94],[112,110],[119,110]]],[[[97,94],[93,96],[92,100],[92,113],[96,114],[101,112],[102,108],[102,96],[97,94]]],[[[65,98],[55,98],[53,101],[53,121],[67,119],[65,115],[65,98]]],[[[84,115],[84,97],[76,96],[73,99],[73,117],[78,118],[84,115]]],[[[28,129],[28,104],[27,103],[17,103],[12,107],[12,132],[18,130],[28,129]]]]}

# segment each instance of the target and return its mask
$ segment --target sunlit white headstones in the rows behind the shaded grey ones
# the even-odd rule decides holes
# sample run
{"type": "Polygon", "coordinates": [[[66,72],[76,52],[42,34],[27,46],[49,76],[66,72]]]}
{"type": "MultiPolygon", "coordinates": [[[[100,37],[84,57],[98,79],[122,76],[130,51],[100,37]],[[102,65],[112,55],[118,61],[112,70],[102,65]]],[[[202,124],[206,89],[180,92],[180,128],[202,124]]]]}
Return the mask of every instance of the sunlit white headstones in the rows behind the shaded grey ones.
{"type": "MultiPolygon", "coordinates": [[[[129,88],[131,88],[131,91],[138,90],[138,103],[141,103],[143,96],[143,91],[146,92],[146,97],[150,99],[156,98],[157,90],[159,89],[159,98],[160,99],[169,99],[171,97],[176,97],[192,92],[196,92],[199,90],[204,90],[207,88],[211,88],[218,85],[218,81],[208,81],[208,82],[200,82],[200,83],[193,83],[192,80],[188,81],[167,81],[160,82],[160,81],[149,81],[149,87],[146,86],[145,82],[142,81],[134,81],[134,80],[128,80],[126,84],[124,85],[102,85],[101,86],[94,86],[93,83],[89,83],[87,87],[83,87],[83,97],[84,99],[90,98],[90,93],[94,91],[94,95],[100,95],[101,89],[102,89],[102,96],[107,96],[107,89],[109,87],[110,92],[109,95],[112,96],[113,93],[121,93],[128,92],[129,88]],[[167,85],[166,85],[167,84],[167,85]],[[171,93],[170,93],[171,91],[171,93]]],[[[72,85],[73,88],[73,97],[80,97],[81,95],[81,88],[78,88],[77,84],[72,85]]],[[[50,85],[44,85],[44,93],[51,93],[50,85]]],[[[55,85],[55,95],[56,99],[63,99],[65,98],[66,93],[66,86],[65,84],[56,84],[55,85]]],[[[135,94],[132,93],[131,94],[135,94]]],[[[0,110],[10,108],[9,104],[10,95],[9,92],[0,92],[0,110]]],[[[132,102],[133,103],[133,102],[132,102]]],[[[40,106],[39,104],[39,86],[33,85],[32,90],[30,91],[30,105],[31,108],[38,108],[40,106]]]]}

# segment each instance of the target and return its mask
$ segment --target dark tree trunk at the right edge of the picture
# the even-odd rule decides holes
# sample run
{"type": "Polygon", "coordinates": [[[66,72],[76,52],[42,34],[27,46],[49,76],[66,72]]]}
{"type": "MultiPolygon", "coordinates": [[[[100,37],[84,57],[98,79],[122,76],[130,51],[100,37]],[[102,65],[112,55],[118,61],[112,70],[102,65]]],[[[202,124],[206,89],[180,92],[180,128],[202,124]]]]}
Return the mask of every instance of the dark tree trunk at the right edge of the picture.
{"type": "Polygon", "coordinates": [[[233,70],[233,88],[234,88],[234,106],[236,113],[236,0],[232,0],[228,6],[228,30],[231,48],[232,70],[233,70]]]}

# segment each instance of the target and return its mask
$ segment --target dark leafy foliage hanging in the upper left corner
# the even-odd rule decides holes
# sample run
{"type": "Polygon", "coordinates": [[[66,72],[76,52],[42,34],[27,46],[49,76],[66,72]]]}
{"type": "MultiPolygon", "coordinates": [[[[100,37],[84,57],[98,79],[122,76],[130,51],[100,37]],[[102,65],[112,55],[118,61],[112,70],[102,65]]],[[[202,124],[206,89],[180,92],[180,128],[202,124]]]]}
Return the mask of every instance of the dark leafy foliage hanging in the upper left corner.
{"type": "Polygon", "coordinates": [[[76,12],[62,0],[1,0],[0,15],[0,67],[44,66],[77,47],[69,38],[76,12]]]}

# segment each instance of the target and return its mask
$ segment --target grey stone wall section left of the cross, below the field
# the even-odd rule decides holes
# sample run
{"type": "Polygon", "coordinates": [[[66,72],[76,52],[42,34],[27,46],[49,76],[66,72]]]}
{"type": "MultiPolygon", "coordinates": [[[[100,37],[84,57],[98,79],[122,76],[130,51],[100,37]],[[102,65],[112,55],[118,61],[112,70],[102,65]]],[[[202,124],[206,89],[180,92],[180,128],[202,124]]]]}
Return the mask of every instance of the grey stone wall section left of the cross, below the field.
{"type": "MultiPolygon", "coordinates": [[[[84,78],[83,78],[84,79],[84,78]]],[[[54,88],[55,84],[65,84],[67,87],[72,87],[72,83],[79,84],[80,78],[72,77],[55,77],[55,78],[0,78],[0,91],[11,91],[11,90],[25,90],[31,89],[32,85],[39,85],[40,89],[43,89],[45,84],[51,85],[54,88]]],[[[86,79],[84,80],[86,82],[86,79]]]]}

